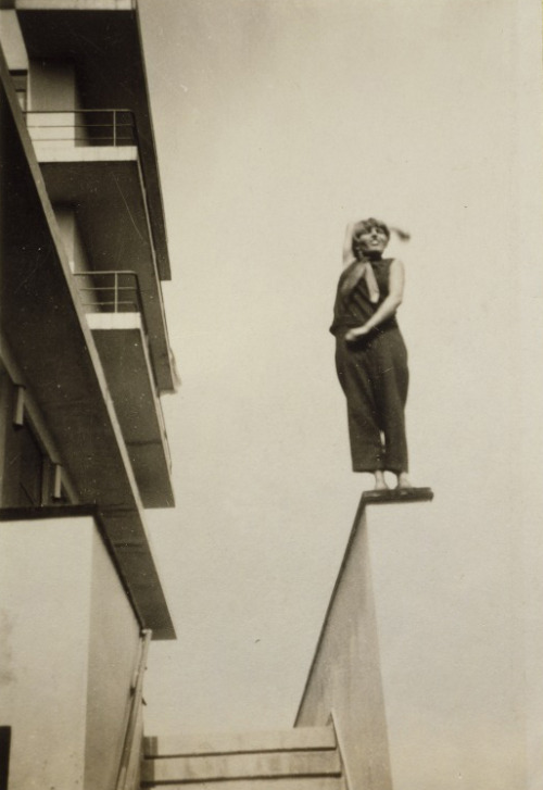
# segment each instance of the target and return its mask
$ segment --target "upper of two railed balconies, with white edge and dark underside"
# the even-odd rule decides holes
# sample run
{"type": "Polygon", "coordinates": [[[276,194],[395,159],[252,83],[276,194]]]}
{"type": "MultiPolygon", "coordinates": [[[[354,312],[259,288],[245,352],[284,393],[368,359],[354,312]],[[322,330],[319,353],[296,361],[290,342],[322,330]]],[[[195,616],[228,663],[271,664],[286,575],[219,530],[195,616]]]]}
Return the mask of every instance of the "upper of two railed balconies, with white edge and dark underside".
{"type": "Polygon", "coordinates": [[[127,261],[137,275],[137,312],[147,327],[151,367],[159,391],[172,391],[155,239],[132,113],[36,111],[26,113],[26,123],[49,198],[53,205],[70,205],[76,212],[92,267],[123,271],[127,261]]]}

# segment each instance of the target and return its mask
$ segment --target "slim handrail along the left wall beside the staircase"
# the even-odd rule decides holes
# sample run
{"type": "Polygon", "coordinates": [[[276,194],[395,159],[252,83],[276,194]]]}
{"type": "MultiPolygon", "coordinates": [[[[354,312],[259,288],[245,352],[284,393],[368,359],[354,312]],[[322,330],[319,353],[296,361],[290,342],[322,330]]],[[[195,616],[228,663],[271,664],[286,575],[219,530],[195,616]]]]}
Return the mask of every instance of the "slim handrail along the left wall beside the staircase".
{"type": "Polygon", "coordinates": [[[141,651],[134,675],[134,681],[130,687],[130,710],[115,790],[136,790],[139,786],[141,747],[143,741],[143,676],[147,668],[147,656],[151,637],[152,631],[150,629],[144,629],[141,632],[141,651]]]}

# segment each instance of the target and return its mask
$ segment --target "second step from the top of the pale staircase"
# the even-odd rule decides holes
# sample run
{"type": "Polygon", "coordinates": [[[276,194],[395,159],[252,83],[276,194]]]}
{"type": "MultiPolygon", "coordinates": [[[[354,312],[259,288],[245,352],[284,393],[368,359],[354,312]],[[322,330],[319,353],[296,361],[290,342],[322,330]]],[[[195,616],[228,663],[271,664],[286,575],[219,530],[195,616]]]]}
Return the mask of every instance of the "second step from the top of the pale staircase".
{"type": "Polygon", "coordinates": [[[142,782],[273,779],[299,776],[340,776],[336,751],[265,752],[193,757],[152,757],[143,761],[142,782]]]}

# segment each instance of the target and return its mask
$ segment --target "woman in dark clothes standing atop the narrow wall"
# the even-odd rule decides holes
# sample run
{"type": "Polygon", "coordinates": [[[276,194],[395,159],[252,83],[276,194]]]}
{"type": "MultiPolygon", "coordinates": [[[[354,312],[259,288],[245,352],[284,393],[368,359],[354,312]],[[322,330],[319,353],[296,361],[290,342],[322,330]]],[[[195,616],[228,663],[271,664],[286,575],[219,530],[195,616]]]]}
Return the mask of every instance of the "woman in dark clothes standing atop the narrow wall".
{"type": "Polygon", "coordinates": [[[397,476],[399,488],[412,488],[404,418],[407,350],[395,318],[404,267],[382,258],[389,239],[387,225],[372,217],[349,226],[344,253],[354,260],[340,277],[330,327],[346,397],[353,471],[372,473],[376,490],[388,488],[386,471],[397,476]]]}

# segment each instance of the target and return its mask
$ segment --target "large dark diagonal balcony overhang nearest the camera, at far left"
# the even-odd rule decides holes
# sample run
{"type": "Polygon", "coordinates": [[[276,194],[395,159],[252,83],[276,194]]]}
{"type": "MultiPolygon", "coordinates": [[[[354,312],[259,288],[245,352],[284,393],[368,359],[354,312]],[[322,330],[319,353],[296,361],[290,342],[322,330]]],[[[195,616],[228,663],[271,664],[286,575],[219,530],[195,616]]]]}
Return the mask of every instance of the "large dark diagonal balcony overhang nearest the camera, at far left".
{"type": "Polygon", "coordinates": [[[105,372],[1,55],[0,103],[9,151],[2,161],[2,188],[10,200],[10,222],[0,234],[2,359],[16,368],[17,381],[33,393],[59,460],[70,471],[78,502],[96,509],[142,625],[152,628],[156,639],[173,639],[174,626],[105,372]]]}

